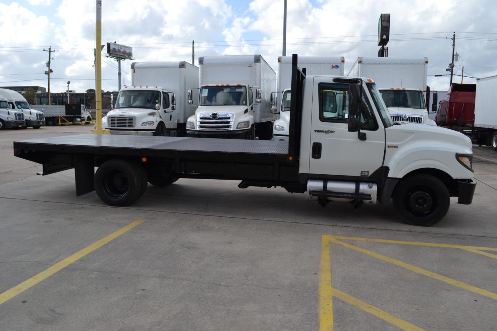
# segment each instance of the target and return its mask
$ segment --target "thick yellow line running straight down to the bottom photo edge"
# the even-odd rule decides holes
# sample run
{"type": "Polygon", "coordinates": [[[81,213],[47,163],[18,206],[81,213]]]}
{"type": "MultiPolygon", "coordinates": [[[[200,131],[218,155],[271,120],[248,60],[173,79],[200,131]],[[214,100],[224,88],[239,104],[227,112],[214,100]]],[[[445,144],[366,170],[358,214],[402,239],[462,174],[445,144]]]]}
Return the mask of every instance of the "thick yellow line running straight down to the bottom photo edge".
{"type": "Polygon", "coordinates": [[[333,300],[331,293],[331,250],[326,236],[321,241],[319,268],[319,330],[333,331],[333,300]]]}

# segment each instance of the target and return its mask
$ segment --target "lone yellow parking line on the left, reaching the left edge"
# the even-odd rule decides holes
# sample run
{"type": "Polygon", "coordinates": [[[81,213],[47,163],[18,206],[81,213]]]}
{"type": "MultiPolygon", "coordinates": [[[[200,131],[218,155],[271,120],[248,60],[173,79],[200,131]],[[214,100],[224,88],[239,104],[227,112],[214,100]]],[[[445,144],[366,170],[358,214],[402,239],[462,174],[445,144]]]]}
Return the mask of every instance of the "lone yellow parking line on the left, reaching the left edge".
{"type": "Polygon", "coordinates": [[[70,257],[56,263],[55,265],[52,265],[51,267],[43,270],[42,272],[38,273],[37,275],[23,281],[19,285],[16,285],[16,286],[12,287],[11,289],[6,290],[5,292],[0,294],[0,305],[2,303],[12,299],[13,297],[18,295],[19,293],[24,292],[28,288],[38,284],[40,281],[47,279],[48,277],[50,277],[51,275],[53,275],[57,271],[60,271],[63,268],[65,268],[66,266],[78,261],[79,259],[83,258],[83,256],[93,252],[97,248],[100,248],[103,245],[107,244],[108,242],[116,239],[117,237],[119,237],[123,233],[131,230],[135,226],[143,223],[144,221],[145,221],[144,219],[137,219],[133,223],[126,225],[125,227],[117,230],[116,232],[109,234],[106,237],[103,237],[102,239],[94,242],[93,244],[83,248],[81,251],[79,251],[79,252],[71,255],[70,257]]]}

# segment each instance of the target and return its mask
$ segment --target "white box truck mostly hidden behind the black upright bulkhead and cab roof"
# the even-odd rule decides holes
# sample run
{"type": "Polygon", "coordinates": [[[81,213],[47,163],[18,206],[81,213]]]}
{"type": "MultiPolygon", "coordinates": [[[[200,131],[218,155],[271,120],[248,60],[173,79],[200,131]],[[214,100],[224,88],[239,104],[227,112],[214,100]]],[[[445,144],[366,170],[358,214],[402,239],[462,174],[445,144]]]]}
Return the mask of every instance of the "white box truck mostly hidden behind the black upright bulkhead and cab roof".
{"type": "MultiPolygon", "coordinates": [[[[306,69],[306,75],[343,76],[344,57],[299,57],[298,66],[306,69]]],[[[288,141],[290,124],[290,87],[292,85],[292,57],[278,57],[278,89],[273,93],[273,113],[279,115],[274,121],[273,139],[288,141]],[[282,103],[283,100],[283,103],[282,103]]]]}

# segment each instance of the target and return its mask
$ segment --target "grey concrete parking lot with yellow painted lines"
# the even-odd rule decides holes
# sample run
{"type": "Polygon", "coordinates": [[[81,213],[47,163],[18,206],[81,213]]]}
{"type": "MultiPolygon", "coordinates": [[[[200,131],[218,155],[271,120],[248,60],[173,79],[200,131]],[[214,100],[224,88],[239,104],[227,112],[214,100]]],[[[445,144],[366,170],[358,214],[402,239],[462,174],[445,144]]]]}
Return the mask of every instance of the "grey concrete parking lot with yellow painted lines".
{"type": "Polygon", "coordinates": [[[180,179],[128,207],[37,176],[0,132],[0,330],[496,330],[497,152],[431,227],[393,207],[180,179]]]}

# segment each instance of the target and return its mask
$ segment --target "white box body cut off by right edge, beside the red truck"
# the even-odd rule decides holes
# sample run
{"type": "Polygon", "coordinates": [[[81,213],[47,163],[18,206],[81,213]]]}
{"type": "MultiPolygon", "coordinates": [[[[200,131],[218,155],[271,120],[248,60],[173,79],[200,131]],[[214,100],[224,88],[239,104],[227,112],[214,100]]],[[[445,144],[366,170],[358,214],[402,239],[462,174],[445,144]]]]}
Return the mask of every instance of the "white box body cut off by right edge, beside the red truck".
{"type": "Polygon", "coordinates": [[[478,145],[497,151],[497,76],[476,80],[475,125],[478,145]]]}

